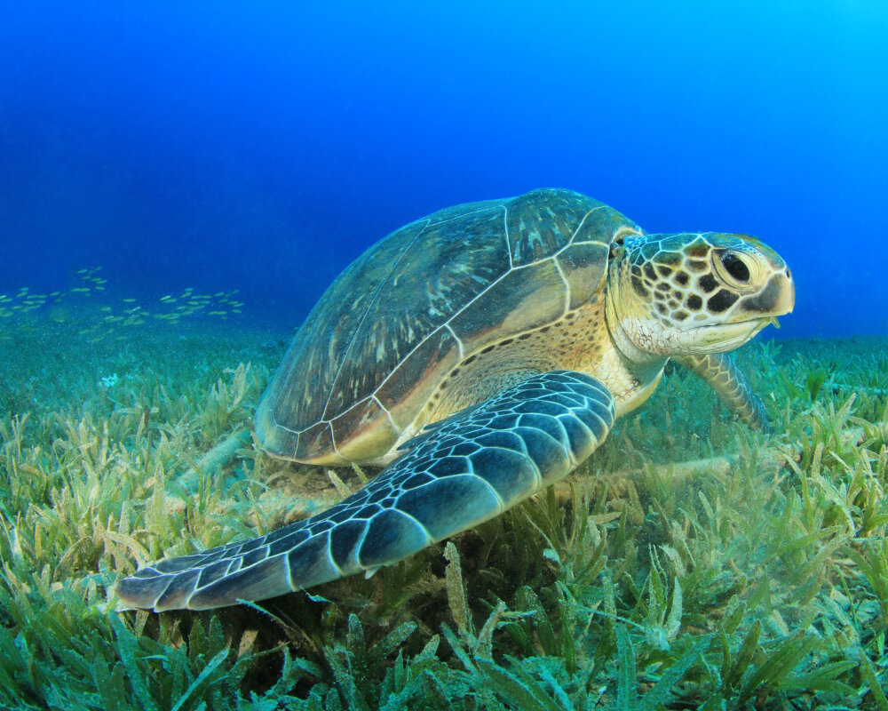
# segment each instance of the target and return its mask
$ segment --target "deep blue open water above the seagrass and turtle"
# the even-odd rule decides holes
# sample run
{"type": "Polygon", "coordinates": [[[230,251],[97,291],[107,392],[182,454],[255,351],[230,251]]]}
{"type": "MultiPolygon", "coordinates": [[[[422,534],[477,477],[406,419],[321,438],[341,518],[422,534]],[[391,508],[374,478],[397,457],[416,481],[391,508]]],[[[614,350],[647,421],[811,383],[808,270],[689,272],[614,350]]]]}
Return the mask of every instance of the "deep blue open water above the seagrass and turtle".
{"type": "Polygon", "coordinates": [[[888,332],[888,4],[549,5],[0,3],[0,292],[298,324],[401,224],[559,186],[773,244],[781,335],[888,332]]]}

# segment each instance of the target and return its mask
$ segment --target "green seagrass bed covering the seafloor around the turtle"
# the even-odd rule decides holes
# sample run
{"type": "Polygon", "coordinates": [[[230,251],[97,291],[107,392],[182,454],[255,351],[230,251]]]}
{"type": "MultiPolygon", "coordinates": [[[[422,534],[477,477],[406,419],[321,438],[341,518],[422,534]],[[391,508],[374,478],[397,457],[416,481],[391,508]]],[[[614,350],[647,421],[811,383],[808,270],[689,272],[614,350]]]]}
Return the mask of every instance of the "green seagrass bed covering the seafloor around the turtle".
{"type": "Polygon", "coordinates": [[[563,483],[370,579],[117,611],[137,564],[372,475],[232,439],[289,334],[211,317],[240,303],[219,293],[187,327],[7,297],[0,707],[888,709],[885,339],[742,348],[768,437],[671,369],[563,483]],[[205,459],[226,441],[231,464],[205,459]]]}

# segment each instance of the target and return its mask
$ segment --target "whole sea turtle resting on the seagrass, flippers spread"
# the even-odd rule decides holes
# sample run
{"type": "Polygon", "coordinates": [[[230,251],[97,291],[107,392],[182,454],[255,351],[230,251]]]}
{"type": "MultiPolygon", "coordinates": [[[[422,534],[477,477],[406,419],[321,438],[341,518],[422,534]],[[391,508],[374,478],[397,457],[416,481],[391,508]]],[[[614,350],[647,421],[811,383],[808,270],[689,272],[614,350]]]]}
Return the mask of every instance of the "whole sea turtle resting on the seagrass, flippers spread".
{"type": "Polygon", "coordinates": [[[152,563],[117,594],[200,610],[396,563],[567,475],[670,358],[763,427],[725,351],[794,300],[786,263],[753,237],[649,235],[568,190],[416,220],[324,293],[255,420],[274,456],[385,468],[319,515],[152,563]]]}

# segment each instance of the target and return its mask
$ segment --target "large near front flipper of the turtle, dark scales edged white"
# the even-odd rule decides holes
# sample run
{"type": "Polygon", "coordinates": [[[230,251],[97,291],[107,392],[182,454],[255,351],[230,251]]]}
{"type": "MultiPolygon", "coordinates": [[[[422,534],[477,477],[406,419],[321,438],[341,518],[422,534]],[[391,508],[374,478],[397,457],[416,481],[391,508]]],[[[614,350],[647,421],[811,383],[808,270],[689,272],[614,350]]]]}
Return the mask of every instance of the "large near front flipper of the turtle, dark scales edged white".
{"type": "Polygon", "coordinates": [[[258,539],[121,580],[134,608],[203,610],[391,565],[567,475],[614,424],[614,398],[573,371],[535,375],[421,436],[361,491],[258,539]]]}

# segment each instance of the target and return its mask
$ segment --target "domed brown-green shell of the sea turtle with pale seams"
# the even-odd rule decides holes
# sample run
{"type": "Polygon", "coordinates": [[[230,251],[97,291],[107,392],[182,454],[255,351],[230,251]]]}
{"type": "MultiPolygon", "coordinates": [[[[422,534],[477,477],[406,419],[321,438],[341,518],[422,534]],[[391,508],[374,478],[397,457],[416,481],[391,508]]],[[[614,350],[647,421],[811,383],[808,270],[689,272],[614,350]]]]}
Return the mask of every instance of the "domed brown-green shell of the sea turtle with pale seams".
{"type": "Polygon", "coordinates": [[[260,441],[319,464],[385,457],[456,366],[603,289],[609,244],[625,230],[638,227],[607,205],[543,189],[392,232],[297,332],[259,403],[260,441]]]}

